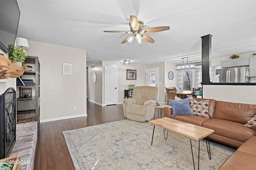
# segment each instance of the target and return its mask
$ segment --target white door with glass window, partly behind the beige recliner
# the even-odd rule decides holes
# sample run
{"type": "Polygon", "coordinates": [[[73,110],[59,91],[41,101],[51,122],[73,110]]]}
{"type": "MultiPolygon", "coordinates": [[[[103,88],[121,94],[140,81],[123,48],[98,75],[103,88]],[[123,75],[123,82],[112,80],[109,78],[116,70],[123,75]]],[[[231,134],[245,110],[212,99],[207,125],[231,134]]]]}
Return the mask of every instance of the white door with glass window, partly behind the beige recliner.
{"type": "MultiPolygon", "coordinates": [[[[146,86],[156,86],[159,85],[159,68],[146,69],[146,86]]],[[[159,93],[158,93],[159,97],[159,93]]],[[[157,97],[157,102],[158,102],[157,97]]]]}

